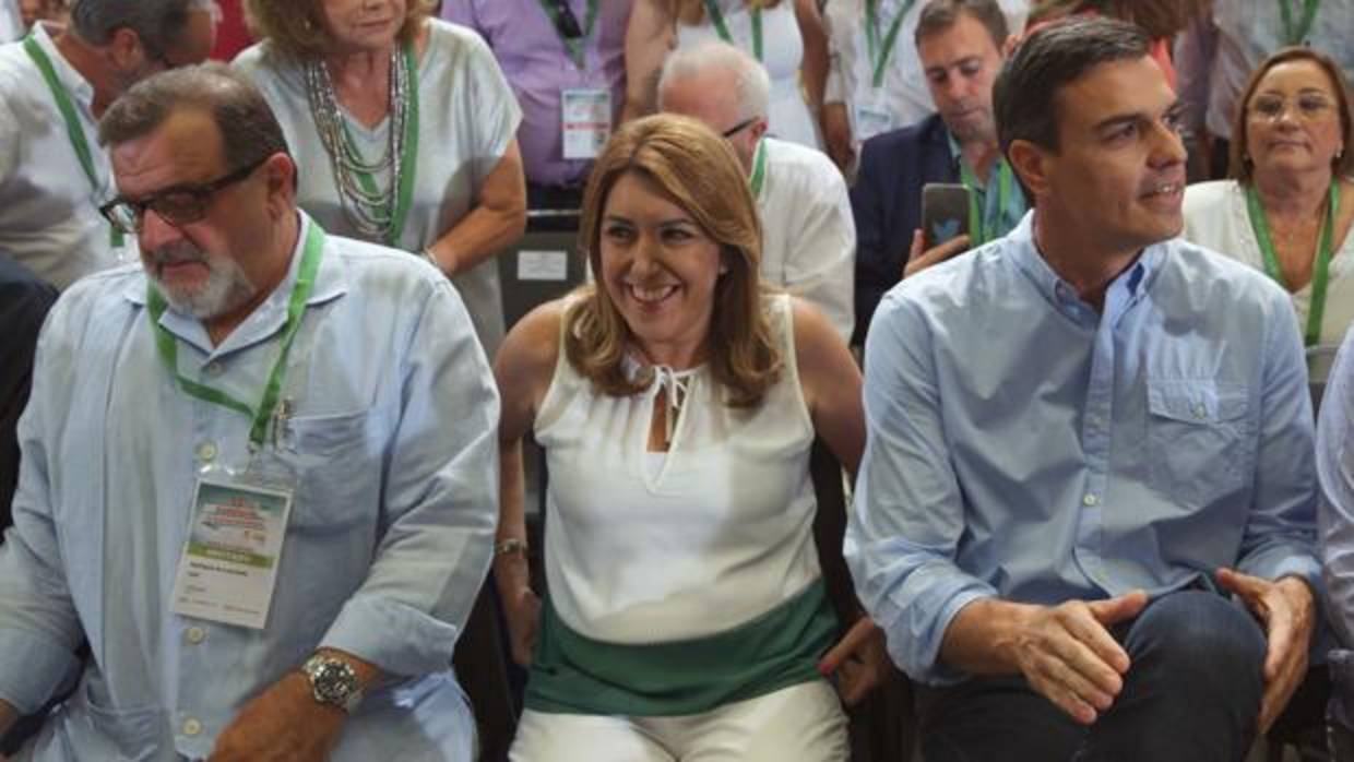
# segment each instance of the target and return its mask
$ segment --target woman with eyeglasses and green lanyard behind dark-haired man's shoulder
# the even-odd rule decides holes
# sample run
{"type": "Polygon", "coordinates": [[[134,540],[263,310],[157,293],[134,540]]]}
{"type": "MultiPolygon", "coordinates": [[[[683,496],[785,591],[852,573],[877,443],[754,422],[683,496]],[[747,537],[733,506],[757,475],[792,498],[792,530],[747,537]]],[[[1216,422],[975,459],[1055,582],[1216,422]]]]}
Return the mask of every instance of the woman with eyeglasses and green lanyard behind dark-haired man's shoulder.
{"type": "MultiPolygon", "coordinates": [[[[1189,241],[1262,269],[1293,298],[1313,349],[1354,323],[1354,112],[1339,66],[1286,47],[1251,74],[1232,122],[1231,177],[1185,189],[1189,241]]],[[[1323,382],[1326,361],[1312,364],[1323,382]]]]}

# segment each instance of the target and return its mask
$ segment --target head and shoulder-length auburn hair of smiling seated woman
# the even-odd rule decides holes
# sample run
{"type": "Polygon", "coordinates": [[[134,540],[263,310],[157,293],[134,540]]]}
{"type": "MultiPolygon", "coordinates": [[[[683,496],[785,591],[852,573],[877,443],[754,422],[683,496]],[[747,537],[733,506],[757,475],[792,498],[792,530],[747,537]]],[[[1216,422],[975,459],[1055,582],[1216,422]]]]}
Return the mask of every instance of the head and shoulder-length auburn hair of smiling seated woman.
{"type": "Polygon", "coordinates": [[[735,401],[756,403],[781,359],[760,303],[761,227],[747,181],[726,142],[697,139],[707,129],[649,125],[616,138],[593,168],[580,238],[603,287],[585,291],[567,318],[569,359],[603,390],[630,394],[647,386],[621,361],[638,342],[658,355],[650,363],[708,361],[735,401]],[[676,288],[640,302],[632,284],[676,288]]]}

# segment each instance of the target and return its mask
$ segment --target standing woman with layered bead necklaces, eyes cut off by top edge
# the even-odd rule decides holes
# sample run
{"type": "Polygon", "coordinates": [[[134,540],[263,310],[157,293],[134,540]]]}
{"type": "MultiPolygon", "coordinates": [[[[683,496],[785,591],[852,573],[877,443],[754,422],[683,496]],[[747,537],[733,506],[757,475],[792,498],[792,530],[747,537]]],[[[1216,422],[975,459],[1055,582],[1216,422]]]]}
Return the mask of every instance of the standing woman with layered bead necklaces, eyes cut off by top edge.
{"type": "Polygon", "coordinates": [[[489,356],[502,340],[493,254],[527,223],[521,110],[477,34],[428,0],[246,0],[261,42],[234,66],[297,160],[325,230],[421,254],[451,277],[489,356]]]}

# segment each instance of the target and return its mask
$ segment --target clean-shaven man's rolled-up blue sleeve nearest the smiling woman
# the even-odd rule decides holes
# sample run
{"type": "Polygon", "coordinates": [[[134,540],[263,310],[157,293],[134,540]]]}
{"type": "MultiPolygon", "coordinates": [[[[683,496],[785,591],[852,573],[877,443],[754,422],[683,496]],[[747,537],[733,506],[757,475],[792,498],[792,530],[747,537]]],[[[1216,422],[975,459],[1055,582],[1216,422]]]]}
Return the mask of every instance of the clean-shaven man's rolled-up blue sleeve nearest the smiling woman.
{"type": "Polygon", "coordinates": [[[865,342],[868,441],[846,529],[846,562],[888,652],[914,679],[961,675],[940,663],[949,623],[997,590],[955,563],[964,505],[933,357],[934,326],[894,290],[865,342]]]}

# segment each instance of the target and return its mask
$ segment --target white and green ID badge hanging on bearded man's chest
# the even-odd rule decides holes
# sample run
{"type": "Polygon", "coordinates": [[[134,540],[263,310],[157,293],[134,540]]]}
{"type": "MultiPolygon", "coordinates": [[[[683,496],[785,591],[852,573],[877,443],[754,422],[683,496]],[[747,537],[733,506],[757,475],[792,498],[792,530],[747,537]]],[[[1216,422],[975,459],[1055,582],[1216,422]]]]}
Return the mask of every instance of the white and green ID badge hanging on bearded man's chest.
{"type": "Polygon", "coordinates": [[[253,629],[267,624],[295,482],[276,466],[255,463],[244,472],[199,472],[175,575],[176,614],[253,629]]]}

